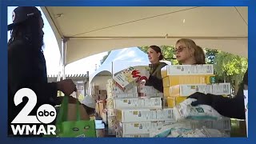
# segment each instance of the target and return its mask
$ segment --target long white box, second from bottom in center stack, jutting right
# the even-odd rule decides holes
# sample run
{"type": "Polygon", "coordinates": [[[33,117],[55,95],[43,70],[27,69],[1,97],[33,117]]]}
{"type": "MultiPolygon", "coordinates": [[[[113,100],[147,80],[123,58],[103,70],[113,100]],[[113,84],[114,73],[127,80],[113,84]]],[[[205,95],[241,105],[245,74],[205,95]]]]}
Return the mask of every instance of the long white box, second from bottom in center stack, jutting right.
{"type": "Polygon", "coordinates": [[[117,110],[118,122],[175,121],[173,109],[122,109],[117,110]]]}

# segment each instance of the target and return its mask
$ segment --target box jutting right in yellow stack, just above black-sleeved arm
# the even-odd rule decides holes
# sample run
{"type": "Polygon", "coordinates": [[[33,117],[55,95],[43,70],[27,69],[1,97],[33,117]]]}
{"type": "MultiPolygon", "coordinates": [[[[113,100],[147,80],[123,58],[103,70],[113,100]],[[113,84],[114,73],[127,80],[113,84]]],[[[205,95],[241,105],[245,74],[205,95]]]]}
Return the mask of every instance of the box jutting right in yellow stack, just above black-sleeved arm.
{"type": "Polygon", "coordinates": [[[170,88],[164,88],[165,96],[190,96],[196,92],[204,94],[228,95],[231,94],[230,83],[218,84],[195,84],[195,85],[177,85],[170,88]]]}

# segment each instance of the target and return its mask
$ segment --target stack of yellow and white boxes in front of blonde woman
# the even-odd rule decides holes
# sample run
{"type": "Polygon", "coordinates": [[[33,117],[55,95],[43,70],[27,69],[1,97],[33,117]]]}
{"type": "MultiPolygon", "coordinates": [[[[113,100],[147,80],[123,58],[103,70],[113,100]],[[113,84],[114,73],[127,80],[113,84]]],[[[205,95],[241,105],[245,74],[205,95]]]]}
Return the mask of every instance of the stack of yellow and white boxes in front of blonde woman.
{"type": "MultiPolygon", "coordinates": [[[[162,68],[164,86],[164,106],[173,108],[183,102],[190,94],[229,95],[230,83],[215,83],[213,65],[176,65],[162,68]]],[[[230,119],[221,121],[190,122],[193,128],[206,126],[229,132],[230,119]]]]}

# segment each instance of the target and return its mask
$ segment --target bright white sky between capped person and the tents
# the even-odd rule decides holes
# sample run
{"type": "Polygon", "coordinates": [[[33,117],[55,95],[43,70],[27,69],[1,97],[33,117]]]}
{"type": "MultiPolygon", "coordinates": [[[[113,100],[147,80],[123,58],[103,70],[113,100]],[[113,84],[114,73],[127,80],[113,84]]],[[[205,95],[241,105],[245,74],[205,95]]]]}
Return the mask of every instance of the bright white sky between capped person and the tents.
{"type": "MultiPolygon", "coordinates": [[[[8,7],[8,24],[12,23],[12,12],[16,6],[8,7]]],[[[41,10],[40,7],[37,7],[38,10],[41,10]]],[[[41,10],[42,12],[42,10],[41,10]]],[[[44,35],[44,55],[46,58],[46,67],[47,74],[58,74],[62,70],[60,65],[60,51],[58,48],[58,43],[55,38],[54,32],[50,27],[49,22],[46,19],[46,16],[42,13],[42,19],[44,21],[43,31],[44,35]]],[[[8,40],[10,38],[10,31],[8,32],[8,40]]],[[[89,74],[94,73],[95,67],[100,66],[100,60],[106,55],[107,52],[95,54],[87,58],[78,60],[77,62],[70,63],[66,66],[66,74],[86,74],[86,71],[89,71],[89,74]]]]}

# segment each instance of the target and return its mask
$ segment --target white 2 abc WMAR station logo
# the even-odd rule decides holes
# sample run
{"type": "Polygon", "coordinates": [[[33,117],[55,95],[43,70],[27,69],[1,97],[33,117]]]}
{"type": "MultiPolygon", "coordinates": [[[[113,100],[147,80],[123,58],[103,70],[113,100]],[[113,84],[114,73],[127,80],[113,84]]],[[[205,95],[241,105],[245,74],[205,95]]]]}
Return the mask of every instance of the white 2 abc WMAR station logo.
{"type": "Polygon", "coordinates": [[[10,125],[13,134],[55,134],[56,127],[54,125],[26,125],[38,123],[48,124],[50,122],[53,122],[57,115],[54,106],[44,104],[38,108],[36,116],[29,115],[31,110],[33,110],[34,106],[37,104],[37,95],[34,93],[33,90],[30,90],[28,88],[18,90],[14,95],[15,106],[18,106],[22,102],[22,98],[24,97],[27,97],[29,100],[26,103],[26,106],[23,107],[23,109],[11,122],[12,124],[18,124],[15,126],[10,125]]]}

